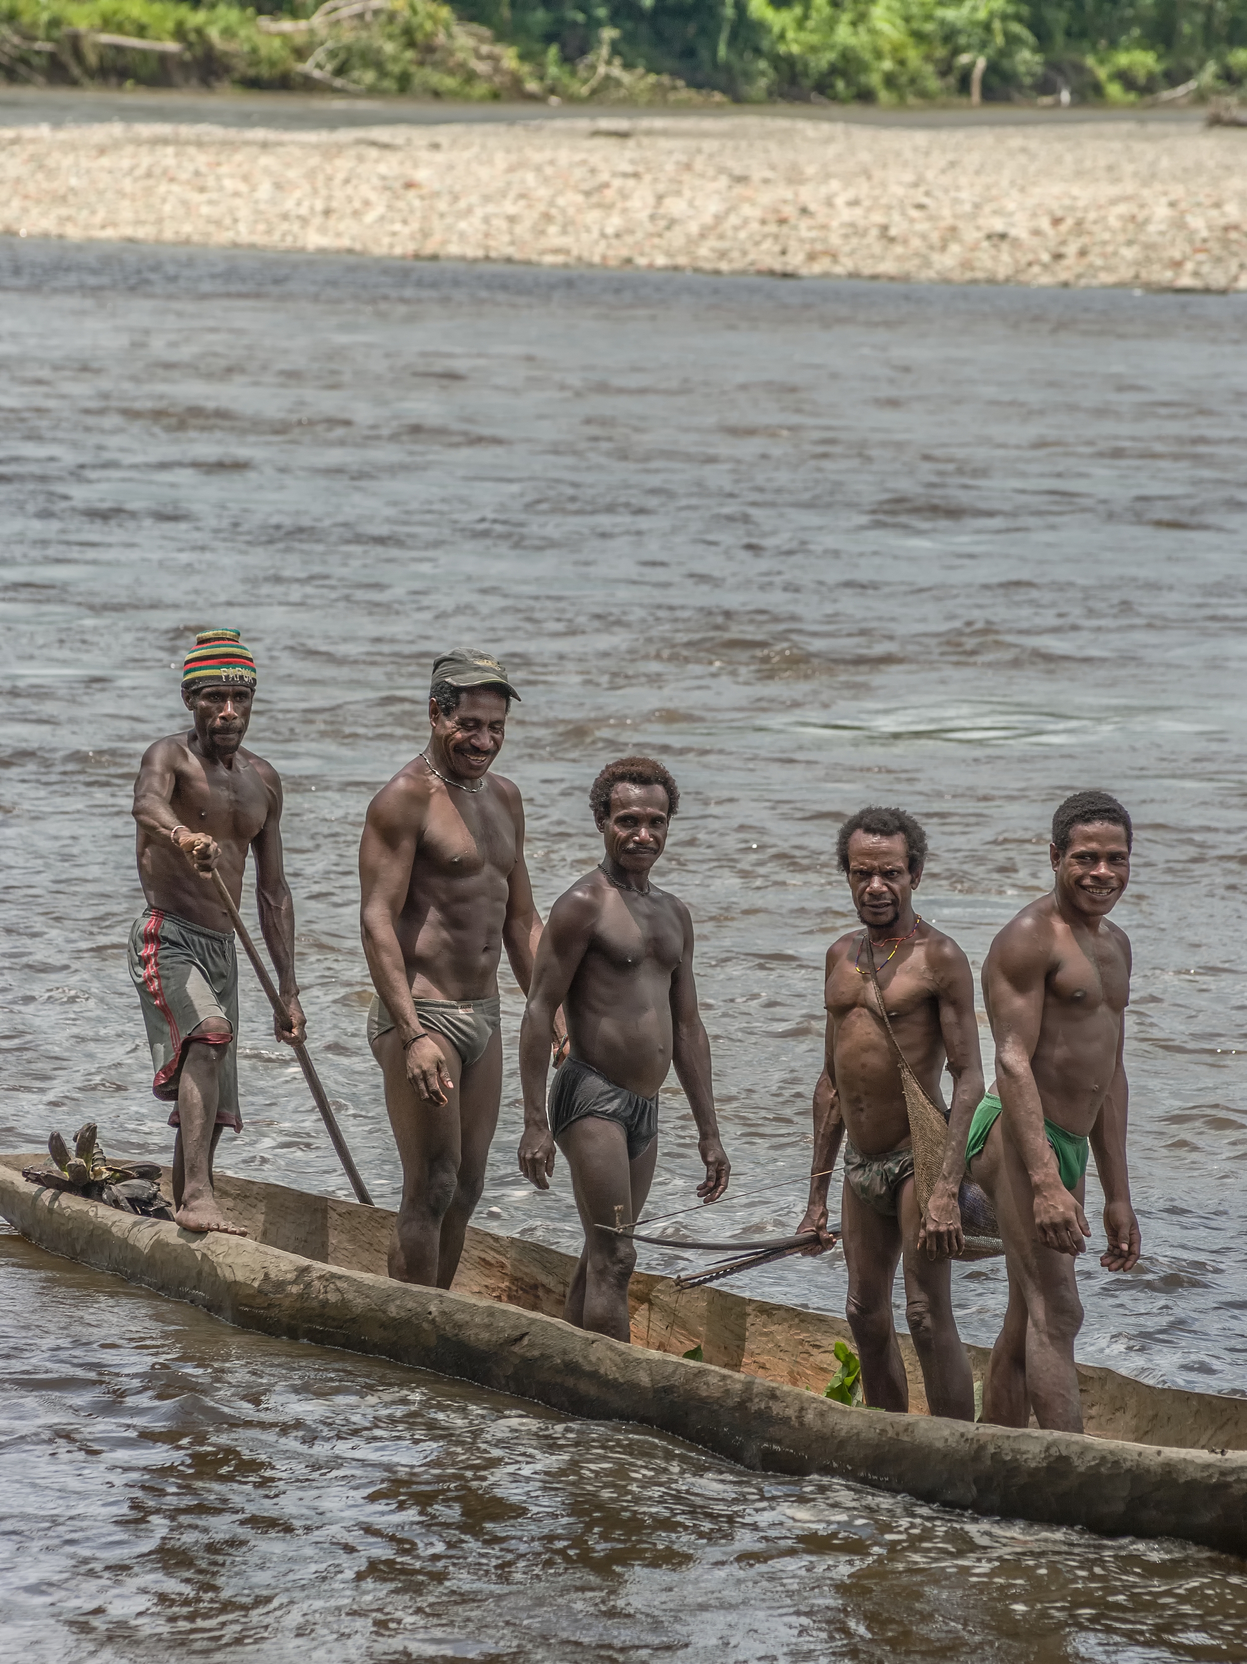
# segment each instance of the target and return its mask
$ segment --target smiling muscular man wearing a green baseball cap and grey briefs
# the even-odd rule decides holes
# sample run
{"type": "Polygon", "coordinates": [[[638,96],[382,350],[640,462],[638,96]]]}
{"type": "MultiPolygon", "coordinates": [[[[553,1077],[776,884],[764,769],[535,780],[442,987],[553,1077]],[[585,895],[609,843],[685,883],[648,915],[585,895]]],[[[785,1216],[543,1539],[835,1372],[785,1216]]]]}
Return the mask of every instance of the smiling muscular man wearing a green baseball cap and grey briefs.
{"type": "MultiPolygon", "coordinates": [[[[542,920],[524,804],[490,774],[519,694],[492,654],[434,659],[429,742],[372,799],[359,845],[367,1038],[402,1161],[389,1275],[449,1288],[502,1097],[497,967],[529,992],[542,920]]],[[[562,1013],[552,1035],[562,1057],[562,1013]]]]}

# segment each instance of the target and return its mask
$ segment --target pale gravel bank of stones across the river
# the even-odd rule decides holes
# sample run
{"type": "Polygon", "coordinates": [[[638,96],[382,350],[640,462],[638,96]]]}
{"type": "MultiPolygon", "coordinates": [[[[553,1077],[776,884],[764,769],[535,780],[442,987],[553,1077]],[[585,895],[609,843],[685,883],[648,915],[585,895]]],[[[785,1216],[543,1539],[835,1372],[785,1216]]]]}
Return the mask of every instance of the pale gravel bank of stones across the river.
{"type": "Polygon", "coordinates": [[[0,233],[939,283],[1247,290],[1247,131],[599,116],[0,128],[0,233]]]}

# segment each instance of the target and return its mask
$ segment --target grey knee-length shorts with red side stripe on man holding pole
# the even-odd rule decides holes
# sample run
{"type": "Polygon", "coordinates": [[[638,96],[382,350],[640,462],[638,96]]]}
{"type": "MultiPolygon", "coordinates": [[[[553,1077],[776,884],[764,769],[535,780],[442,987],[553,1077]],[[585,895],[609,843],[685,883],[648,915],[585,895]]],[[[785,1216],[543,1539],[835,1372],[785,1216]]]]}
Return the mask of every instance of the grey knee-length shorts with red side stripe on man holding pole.
{"type": "MultiPolygon", "coordinates": [[[[243,1132],[238,1108],[238,957],[234,937],[193,925],[176,914],[148,907],[130,932],[130,975],[138,988],[143,1022],[151,1047],[155,1080],[151,1092],[176,1105],[186,1047],[196,1038],[195,1028],[206,1017],[223,1017],[229,1023],[216,1098],[221,1127],[243,1132]]],[[[208,1042],[211,1043],[211,1042],[208,1042]]],[[[175,1108],[170,1127],[181,1125],[175,1108]]]]}

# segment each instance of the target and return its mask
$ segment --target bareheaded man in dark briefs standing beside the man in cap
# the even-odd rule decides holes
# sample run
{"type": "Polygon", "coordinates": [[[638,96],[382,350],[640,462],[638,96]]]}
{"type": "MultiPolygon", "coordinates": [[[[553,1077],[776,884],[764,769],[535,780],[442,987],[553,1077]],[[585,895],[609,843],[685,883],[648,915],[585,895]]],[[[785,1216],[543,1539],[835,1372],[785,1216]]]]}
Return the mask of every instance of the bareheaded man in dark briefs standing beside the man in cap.
{"type": "Polygon", "coordinates": [[[582,1330],[628,1340],[630,1236],[658,1155],[658,1088],[675,1065],[700,1133],[705,1180],[717,1201],[730,1163],[718,1138],[710,1042],[697,1010],[693,922],[650,882],[680,789],[652,757],[620,757],[589,792],[605,857],[550,909],[520,1030],[524,1138],[520,1171],[549,1190],[555,1143],[572,1170],[585,1246],[564,1316],[582,1330]],[[564,1007],[570,1057],[550,1088],[554,1013],[564,1007]]]}

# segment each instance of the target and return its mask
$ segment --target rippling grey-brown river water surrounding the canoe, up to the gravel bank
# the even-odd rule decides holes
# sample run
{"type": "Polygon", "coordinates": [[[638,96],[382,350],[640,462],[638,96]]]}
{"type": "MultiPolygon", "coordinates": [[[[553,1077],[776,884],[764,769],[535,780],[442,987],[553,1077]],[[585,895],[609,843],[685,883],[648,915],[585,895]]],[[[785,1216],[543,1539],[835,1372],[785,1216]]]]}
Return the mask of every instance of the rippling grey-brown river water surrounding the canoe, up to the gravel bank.
{"type": "MultiPolygon", "coordinates": [[[[0,243],[0,1148],[90,1115],[168,1150],[125,968],[130,785],[191,632],[229,624],[286,784],[309,1045],[392,1201],[357,835],[422,744],[434,652],[477,644],[524,694],[502,770],[542,907],[599,857],[602,762],[680,780],[665,884],[698,929],[728,1235],[801,1213],[838,820],[919,815],[921,910],[978,972],[1046,889],[1054,804],[1117,792],[1144,1260],[1086,1256],[1079,1351],[1247,1393],[1245,333],[1247,296],[0,243]]],[[[519,1010],[504,975],[479,1223],[574,1246],[565,1171],[544,1196],[515,1171],[519,1010]]],[[[241,1090],[223,1166],[349,1195],[246,970],[241,1090]]],[[[650,1211],[695,1176],[672,1090],[650,1211]]],[[[747,1286],[840,1311],[843,1261],[747,1286]]],[[[239,1335],[13,1233],[0,1290],[23,1657],[1242,1656],[1247,1577],[1180,1544],[740,1473],[239,1335]]],[[[954,1268],[954,1298],[989,1343],[1001,1266],[954,1268]]]]}

